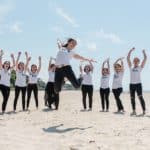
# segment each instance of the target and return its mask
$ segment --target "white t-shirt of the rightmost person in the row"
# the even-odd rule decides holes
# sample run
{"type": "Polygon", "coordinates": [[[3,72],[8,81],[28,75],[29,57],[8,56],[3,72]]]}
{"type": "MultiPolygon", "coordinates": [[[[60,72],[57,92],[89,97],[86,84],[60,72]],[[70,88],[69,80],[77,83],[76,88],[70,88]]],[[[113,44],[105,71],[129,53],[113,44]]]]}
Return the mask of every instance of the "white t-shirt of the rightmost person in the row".
{"type": "Polygon", "coordinates": [[[138,84],[141,83],[141,67],[130,68],[130,83],[138,84]]]}

